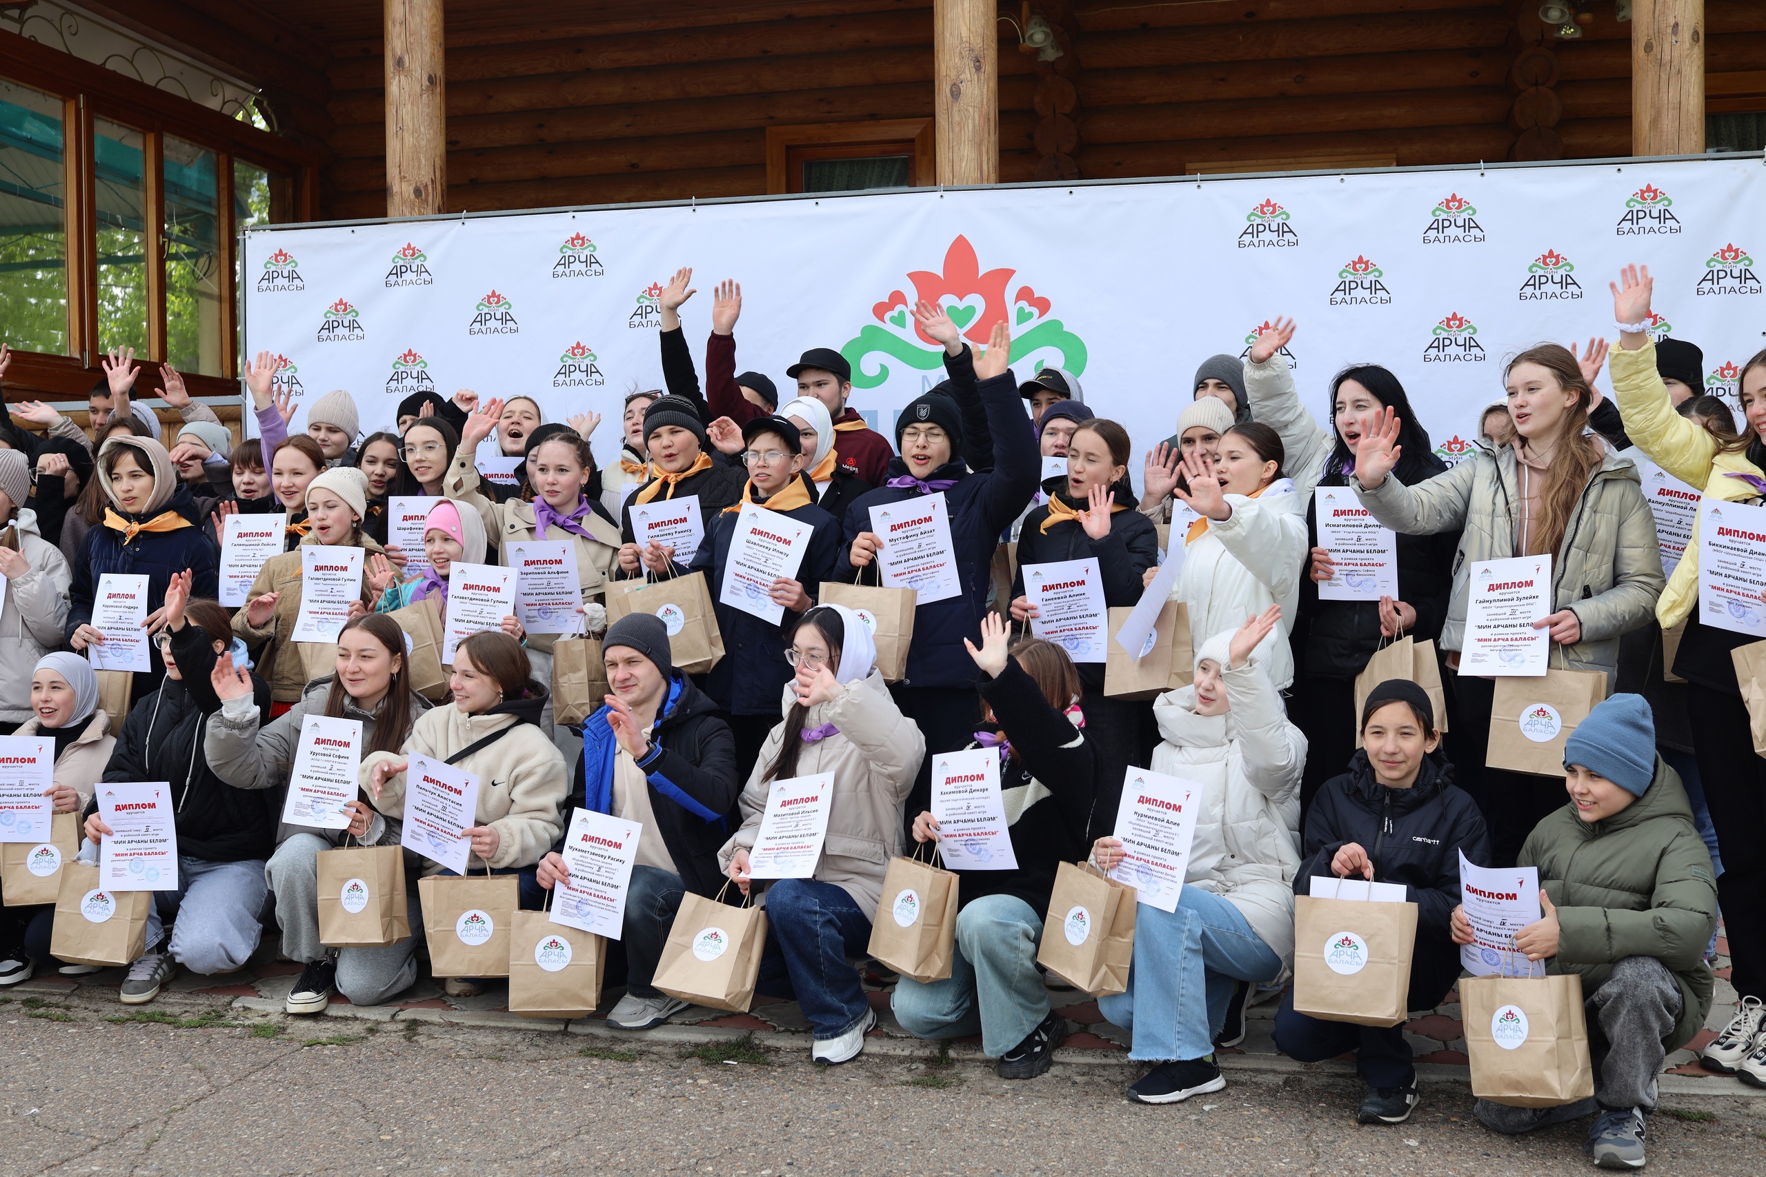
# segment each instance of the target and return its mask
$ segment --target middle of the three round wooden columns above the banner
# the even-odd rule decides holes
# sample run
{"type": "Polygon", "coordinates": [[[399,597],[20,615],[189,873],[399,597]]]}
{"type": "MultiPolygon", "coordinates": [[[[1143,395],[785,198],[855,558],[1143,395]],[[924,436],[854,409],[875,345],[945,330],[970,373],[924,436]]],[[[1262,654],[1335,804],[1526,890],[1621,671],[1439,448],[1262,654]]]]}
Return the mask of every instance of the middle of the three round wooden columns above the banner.
{"type": "MultiPolygon", "coordinates": [[[[389,0],[390,2],[390,0],[389,0]]],[[[940,184],[1000,182],[1000,41],[994,0],[932,0],[940,184]]]]}

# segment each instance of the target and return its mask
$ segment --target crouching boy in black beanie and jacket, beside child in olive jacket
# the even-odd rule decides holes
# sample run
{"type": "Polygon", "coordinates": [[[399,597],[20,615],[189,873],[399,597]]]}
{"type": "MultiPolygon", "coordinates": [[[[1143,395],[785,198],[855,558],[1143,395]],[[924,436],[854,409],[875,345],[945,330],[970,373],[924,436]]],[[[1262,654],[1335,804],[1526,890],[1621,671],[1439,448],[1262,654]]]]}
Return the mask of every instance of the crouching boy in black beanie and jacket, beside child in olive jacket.
{"type": "MultiPolygon", "coordinates": [[[[1307,813],[1305,861],[1294,891],[1307,895],[1314,875],[1395,882],[1416,903],[1409,1009],[1432,1009],[1459,981],[1453,907],[1459,903],[1459,856],[1491,859],[1483,815],[1453,785],[1453,766],[1436,755],[1441,732],[1434,706],[1416,683],[1390,679],[1362,709],[1362,750],[1349,771],[1319,787],[1307,813]]],[[[1404,1027],[1324,1022],[1294,1011],[1293,990],[1275,1015],[1275,1045],[1300,1062],[1358,1050],[1369,1085],[1356,1110],[1362,1124],[1402,1124],[1416,1108],[1416,1068],[1404,1027]]]]}

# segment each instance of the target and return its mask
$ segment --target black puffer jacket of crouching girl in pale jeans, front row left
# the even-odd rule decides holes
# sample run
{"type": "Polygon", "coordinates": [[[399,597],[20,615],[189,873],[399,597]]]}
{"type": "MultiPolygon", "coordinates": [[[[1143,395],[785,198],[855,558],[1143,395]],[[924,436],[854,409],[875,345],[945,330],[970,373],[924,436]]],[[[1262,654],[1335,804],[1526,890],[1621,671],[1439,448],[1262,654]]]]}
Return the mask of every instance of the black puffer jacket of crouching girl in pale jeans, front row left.
{"type": "MultiPolygon", "coordinates": [[[[283,812],[281,789],[235,789],[208,769],[203,738],[221,709],[208,674],[215,665],[207,630],[194,621],[171,635],[171,656],[182,679],[166,678],[134,704],[104,780],[166,780],[171,783],[178,854],[205,863],[270,858],[283,812]]],[[[270,722],[270,685],[251,676],[258,723],[270,722]]],[[[95,808],[95,803],[94,806],[95,808]]]]}

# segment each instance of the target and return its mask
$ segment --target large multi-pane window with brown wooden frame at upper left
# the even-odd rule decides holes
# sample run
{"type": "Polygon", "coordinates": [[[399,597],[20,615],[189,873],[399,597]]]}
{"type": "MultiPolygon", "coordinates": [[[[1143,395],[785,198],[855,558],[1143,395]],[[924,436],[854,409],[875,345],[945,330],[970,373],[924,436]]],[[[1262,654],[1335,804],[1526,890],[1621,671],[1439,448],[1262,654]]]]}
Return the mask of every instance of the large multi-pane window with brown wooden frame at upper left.
{"type": "Polygon", "coordinates": [[[198,397],[238,390],[238,229],[313,214],[316,155],[0,34],[0,341],[9,399],[83,399],[134,348],[198,397]]]}

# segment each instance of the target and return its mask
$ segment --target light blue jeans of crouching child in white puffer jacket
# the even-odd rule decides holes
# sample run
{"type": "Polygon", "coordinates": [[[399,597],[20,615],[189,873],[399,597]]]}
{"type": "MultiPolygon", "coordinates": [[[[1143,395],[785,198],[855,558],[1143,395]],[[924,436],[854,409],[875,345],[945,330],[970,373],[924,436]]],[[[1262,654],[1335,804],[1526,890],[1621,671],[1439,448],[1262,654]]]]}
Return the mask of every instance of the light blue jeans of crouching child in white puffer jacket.
{"type": "Polygon", "coordinates": [[[1238,909],[1185,886],[1178,911],[1141,903],[1134,912],[1128,992],[1098,997],[1098,1011],[1134,1031],[1130,1059],[1171,1062],[1213,1053],[1234,981],[1273,981],[1282,958],[1238,909]]]}

